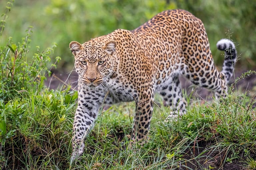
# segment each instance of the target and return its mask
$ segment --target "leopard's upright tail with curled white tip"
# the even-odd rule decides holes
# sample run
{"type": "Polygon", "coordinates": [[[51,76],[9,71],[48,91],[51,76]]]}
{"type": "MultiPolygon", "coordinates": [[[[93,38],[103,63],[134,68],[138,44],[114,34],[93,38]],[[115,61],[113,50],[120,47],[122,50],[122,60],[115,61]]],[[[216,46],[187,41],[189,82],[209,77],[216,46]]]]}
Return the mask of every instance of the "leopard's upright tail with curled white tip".
{"type": "Polygon", "coordinates": [[[221,72],[225,74],[226,82],[228,83],[234,72],[234,66],[237,59],[236,47],[231,40],[221,39],[217,43],[217,48],[225,51],[225,60],[221,72]]]}

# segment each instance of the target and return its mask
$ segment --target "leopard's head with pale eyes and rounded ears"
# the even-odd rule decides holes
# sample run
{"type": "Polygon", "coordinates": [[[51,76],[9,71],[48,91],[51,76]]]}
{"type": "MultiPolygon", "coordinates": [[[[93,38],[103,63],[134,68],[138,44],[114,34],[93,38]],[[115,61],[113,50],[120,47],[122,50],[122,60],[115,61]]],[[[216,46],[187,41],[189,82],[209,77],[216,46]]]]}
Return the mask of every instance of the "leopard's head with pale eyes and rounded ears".
{"type": "Polygon", "coordinates": [[[88,41],[80,44],[72,41],[69,48],[75,56],[75,69],[79,75],[78,83],[94,87],[100,85],[104,78],[113,72],[113,55],[117,43],[113,40],[107,43],[88,41]]]}

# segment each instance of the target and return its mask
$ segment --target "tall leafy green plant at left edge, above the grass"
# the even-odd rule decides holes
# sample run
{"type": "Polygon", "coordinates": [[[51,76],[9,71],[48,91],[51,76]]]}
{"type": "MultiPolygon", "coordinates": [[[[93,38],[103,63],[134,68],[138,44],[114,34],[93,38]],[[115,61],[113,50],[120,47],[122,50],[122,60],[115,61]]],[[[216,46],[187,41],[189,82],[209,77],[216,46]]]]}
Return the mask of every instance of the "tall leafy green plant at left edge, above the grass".
{"type": "MultiPolygon", "coordinates": [[[[48,72],[50,75],[47,66],[51,61],[49,56],[56,48],[56,44],[43,52],[38,47],[38,52],[33,55],[32,61],[27,61],[26,55],[29,53],[31,29],[30,27],[27,30],[27,35],[22,38],[21,43],[13,43],[10,37],[6,46],[0,48],[0,98],[4,101],[22,96],[22,93],[26,91],[40,92],[44,86],[45,73],[48,72]]],[[[59,62],[59,60],[60,58],[56,57],[56,62],[59,62]]]]}

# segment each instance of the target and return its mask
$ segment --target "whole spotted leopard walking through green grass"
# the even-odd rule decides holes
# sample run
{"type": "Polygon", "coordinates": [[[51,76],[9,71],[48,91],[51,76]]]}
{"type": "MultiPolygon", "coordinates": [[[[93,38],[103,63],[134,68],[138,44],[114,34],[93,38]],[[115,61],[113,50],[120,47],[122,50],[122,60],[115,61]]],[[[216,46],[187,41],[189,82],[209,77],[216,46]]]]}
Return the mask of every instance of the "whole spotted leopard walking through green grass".
{"type": "Polygon", "coordinates": [[[80,44],[72,41],[78,74],[78,104],[74,115],[72,157],[84,152],[84,140],[103,104],[135,101],[132,142],[149,133],[155,93],[171,108],[168,118],[186,113],[179,76],[207,88],[219,100],[226,97],[237,51],[232,40],[221,39],[224,51],[219,71],[200,19],[186,10],[166,10],[134,30],[117,29],[80,44]]]}

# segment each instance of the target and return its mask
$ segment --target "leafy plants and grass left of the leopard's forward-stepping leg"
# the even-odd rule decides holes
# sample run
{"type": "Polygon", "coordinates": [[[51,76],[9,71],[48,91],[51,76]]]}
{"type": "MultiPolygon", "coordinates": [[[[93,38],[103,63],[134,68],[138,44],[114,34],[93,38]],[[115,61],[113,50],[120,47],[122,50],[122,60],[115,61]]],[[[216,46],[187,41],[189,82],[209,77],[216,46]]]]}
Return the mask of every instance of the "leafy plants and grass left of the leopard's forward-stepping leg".
{"type": "MultiPolygon", "coordinates": [[[[11,7],[9,1],[0,23],[0,37],[11,7]]],[[[44,87],[56,44],[44,51],[37,47],[37,53],[31,55],[31,33],[29,27],[21,42],[14,43],[9,37],[0,47],[0,169],[38,169],[68,157],[77,92],[70,91],[69,86],[62,91],[44,87]]],[[[56,57],[55,64],[59,60],[56,57]]]]}

